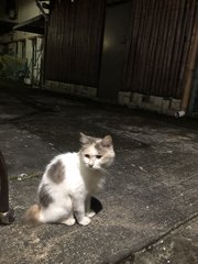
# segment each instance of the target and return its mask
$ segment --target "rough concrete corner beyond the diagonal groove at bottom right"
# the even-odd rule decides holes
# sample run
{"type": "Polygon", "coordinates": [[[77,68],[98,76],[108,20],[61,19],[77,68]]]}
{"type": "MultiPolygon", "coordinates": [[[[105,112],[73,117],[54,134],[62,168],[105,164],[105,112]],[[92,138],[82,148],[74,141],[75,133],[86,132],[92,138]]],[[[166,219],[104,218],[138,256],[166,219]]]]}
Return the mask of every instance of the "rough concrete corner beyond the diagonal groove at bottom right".
{"type": "MultiPolygon", "coordinates": [[[[198,260],[198,216],[174,229],[157,243],[135,254],[134,264],[196,264],[198,260]]],[[[129,260],[122,263],[130,263],[129,260]]]]}

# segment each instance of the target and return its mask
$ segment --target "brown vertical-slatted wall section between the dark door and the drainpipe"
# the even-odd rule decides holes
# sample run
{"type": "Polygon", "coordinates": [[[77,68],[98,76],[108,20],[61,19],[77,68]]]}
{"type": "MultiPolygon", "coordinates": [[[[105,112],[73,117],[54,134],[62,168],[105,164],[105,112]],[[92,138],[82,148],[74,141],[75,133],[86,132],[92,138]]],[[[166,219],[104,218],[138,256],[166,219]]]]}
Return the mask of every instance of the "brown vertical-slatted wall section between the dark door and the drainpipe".
{"type": "Polygon", "coordinates": [[[132,0],[122,91],[180,99],[197,0],[132,0]]]}

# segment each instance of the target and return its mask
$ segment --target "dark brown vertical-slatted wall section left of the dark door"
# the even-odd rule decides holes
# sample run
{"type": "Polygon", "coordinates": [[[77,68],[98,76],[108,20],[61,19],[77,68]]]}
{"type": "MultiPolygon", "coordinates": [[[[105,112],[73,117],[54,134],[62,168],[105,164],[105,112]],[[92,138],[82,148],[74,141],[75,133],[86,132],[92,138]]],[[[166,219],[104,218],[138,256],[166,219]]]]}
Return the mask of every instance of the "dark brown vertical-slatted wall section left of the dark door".
{"type": "Polygon", "coordinates": [[[96,87],[102,46],[105,0],[54,1],[45,79],[96,87]]]}

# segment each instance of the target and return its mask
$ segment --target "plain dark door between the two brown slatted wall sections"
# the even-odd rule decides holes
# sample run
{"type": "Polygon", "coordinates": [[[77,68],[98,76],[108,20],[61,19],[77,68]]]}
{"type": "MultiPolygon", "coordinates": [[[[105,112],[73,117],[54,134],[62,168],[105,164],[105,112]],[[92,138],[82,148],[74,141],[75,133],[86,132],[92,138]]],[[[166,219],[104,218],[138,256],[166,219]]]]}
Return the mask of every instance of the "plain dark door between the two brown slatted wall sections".
{"type": "Polygon", "coordinates": [[[107,6],[98,97],[118,101],[123,85],[124,55],[131,1],[107,6]]]}

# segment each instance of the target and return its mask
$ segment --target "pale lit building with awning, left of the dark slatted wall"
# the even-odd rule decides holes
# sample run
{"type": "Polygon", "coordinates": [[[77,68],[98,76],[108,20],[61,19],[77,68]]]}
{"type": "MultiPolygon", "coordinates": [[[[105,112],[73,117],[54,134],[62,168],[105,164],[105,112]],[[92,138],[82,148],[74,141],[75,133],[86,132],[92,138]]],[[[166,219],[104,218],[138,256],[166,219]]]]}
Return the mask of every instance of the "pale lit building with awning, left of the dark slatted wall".
{"type": "Polygon", "coordinates": [[[34,0],[1,0],[0,4],[0,24],[4,29],[0,32],[1,64],[4,68],[1,77],[19,80],[22,75],[24,82],[40,86],[43,31],[37,32],[33,25],[41,20],[41,11],[34,0]]]}

